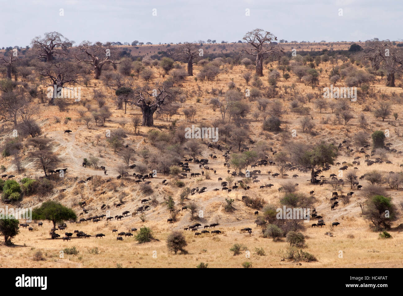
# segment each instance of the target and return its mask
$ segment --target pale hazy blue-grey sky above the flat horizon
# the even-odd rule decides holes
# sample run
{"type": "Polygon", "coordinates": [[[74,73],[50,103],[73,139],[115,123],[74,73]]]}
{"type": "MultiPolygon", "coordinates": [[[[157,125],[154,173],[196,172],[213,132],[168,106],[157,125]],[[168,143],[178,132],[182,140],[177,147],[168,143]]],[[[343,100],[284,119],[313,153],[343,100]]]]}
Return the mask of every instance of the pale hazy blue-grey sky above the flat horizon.
{"type": "Polygon", "coordinates": [[[0,47],[58,31],[91,42],[233,42],[255,28],[278,40],[400,40],[400,0],[2,0],[0,47]],[[64,16],[60,16],[60,8],[64,16]],[[153,16],[153,9],[156,16],[153,16]],[[343,16],[339,16],[339,9],[343,16]],[[245,10],[250,10],[250,16],[245,10]]]}

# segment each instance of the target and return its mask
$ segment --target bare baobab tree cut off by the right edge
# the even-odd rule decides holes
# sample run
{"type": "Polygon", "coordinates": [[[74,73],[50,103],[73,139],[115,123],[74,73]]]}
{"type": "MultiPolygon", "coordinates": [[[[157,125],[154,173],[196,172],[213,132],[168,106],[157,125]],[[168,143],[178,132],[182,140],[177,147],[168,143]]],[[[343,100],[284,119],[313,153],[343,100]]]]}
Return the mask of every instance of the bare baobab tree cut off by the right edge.
{"type": "Polygon", "coordinates": [[[373,69],[386,71],[386,86],[395,87],[395,73],[403,71],[403,49],[391,44],[389,40],[369,40],[361,56],[371,61],[373,69]]]}

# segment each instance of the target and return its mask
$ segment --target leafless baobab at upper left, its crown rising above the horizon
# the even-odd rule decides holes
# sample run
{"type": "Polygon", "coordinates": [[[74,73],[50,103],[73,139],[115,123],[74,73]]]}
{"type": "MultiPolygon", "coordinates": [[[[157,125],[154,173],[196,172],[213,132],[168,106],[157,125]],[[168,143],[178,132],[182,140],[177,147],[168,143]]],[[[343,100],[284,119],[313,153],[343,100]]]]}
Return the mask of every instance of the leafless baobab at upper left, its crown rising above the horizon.
{"type": "Polygon", "coordinates": [[[31,45],[38,58],[45,58],[46,62],[54,60],[56,54],[67,54],[67,48],[75,42],[65,38],[58,32],[45,33],[44,38],[37,36],[32,39],[31,45]]]}

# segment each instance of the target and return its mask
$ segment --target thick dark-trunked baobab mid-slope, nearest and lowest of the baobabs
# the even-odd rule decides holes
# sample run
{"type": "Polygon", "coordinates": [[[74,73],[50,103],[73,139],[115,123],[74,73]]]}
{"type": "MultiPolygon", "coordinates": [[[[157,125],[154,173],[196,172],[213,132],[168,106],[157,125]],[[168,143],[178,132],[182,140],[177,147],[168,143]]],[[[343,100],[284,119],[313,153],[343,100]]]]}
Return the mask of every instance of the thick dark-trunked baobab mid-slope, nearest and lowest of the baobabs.
{"type": "Polygon", "coordinates": [[[152,92],[137,88],[132,93],[131,104],[140,107],[143,113],[142,126],[154,125],[153,115],[164,103],[171,101],[172,95],[164,85],[157,85],[152,92]]]}

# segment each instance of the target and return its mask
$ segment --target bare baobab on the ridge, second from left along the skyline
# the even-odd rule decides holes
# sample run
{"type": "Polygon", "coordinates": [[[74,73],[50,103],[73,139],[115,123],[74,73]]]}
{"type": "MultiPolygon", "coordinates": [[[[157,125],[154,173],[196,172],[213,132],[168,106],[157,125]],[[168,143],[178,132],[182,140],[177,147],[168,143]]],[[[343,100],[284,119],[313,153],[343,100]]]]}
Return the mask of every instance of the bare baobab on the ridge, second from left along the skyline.
{"type": "Polygon", "coordinates": [[[120,64],[120,62],[116,62],[116,59],[111,59],[111,56],[117,58],[118,52],[111,46],[110,42],[104,45],[101,42],[91,44],[89,41],[83,41],[79,45],[79,51],[81,58],[77,58],[77,55],[75,55],[75,58],[79,63],[84,62],[92,65],[94,69],[94,79],[100,78],[102,67],[106,63],[120,64]],[[87,59],[84,57],[87,57],[87,59]]]}

